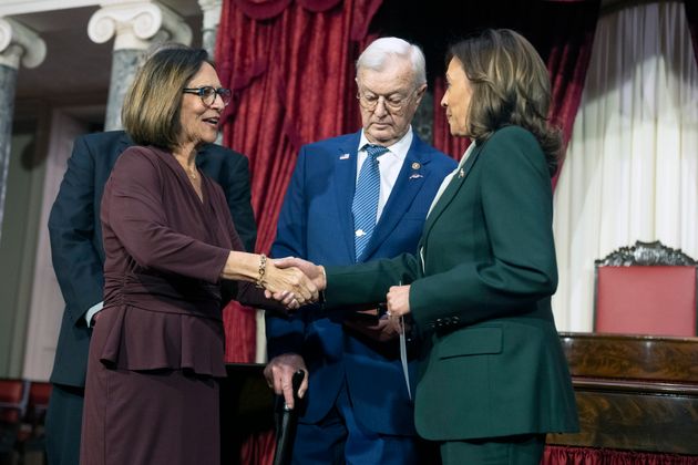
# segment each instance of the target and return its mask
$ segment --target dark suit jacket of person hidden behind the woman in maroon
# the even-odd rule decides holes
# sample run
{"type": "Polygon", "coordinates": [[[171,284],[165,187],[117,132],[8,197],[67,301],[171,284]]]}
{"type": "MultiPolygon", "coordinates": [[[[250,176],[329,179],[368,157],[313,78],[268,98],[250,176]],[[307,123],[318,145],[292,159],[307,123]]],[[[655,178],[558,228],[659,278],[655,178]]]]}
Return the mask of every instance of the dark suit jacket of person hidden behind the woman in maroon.
{"type": "MultiPolygon", "coordinates": [[[[92,330],[84,316],[103,299],[102,225],[100,204],[116,158],[133,142],[123,131],[78,137],[68,170],[49,216],[53,269],[65,311],[59,333],[51,382],[84,386],[92,330]]],[[[217,145],[204,146],[196,164],[223,187],[245,247],[252,250],[257,228],[249,203],[247,158],[217,145]]]]}

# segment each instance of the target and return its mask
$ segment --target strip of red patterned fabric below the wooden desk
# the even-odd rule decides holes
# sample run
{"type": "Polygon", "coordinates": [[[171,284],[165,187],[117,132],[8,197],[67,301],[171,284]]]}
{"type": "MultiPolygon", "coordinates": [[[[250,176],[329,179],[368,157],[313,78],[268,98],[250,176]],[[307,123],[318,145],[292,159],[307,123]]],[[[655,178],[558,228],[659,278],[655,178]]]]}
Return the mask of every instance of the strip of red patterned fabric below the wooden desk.
{"type": "Polygon", "coordinates": [[[545,447],[541,465],[697,465],[698,456],[591,447],[545,447]]]}

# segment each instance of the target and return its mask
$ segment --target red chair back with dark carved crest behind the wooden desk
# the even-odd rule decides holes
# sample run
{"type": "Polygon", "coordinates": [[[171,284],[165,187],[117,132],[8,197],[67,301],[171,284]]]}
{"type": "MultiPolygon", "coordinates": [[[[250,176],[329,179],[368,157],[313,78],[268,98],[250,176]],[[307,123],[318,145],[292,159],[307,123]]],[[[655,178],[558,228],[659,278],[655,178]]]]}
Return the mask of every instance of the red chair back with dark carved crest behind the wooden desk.
{"type": "Polygon", "coordinates": [[[697,262],[659,241],[595,261],[594,331],[696,335],[697,262]]]}

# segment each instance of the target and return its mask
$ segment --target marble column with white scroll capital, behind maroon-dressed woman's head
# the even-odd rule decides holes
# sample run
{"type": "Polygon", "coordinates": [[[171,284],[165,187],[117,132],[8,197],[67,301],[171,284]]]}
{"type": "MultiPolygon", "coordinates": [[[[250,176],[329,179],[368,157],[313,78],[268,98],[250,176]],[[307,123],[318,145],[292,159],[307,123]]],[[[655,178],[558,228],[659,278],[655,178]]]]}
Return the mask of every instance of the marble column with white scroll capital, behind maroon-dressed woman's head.
{"type": "Polygon", "coordinates": [[[112,37],[112,75],[104,130],[120,130],[121,107],[145,52],[160,42],[192,43],[192,29],[184,19],[155,1],[110,3],[97,10],[88,24],[93,42],[112,37]]]}

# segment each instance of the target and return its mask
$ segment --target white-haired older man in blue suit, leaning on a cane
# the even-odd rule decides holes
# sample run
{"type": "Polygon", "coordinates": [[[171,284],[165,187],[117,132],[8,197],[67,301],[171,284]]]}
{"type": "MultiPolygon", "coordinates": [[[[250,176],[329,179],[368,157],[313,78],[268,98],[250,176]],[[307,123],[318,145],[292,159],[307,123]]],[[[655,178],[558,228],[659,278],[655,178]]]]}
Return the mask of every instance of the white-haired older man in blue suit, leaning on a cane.
{"type": "MultiPolygon", "coordinates": [[[[421,50],[401,39],[379,39],[363,51],[356,75],[363,127],[301,148],[274,257],[349,265],[417,249],[439,185],[455,167],[411,127],[427,89],[424,68],[421,50]]],[[[267,318],[269,384],[292,404],[292,373],[309,374],[294,464],[418,463],[413,385],[406,383],[397,332],[388,319],[350,311],[328,318],[314,307],[267,318]]],[[[410,360],[411,382],[414,369],[410,360]]]]}

